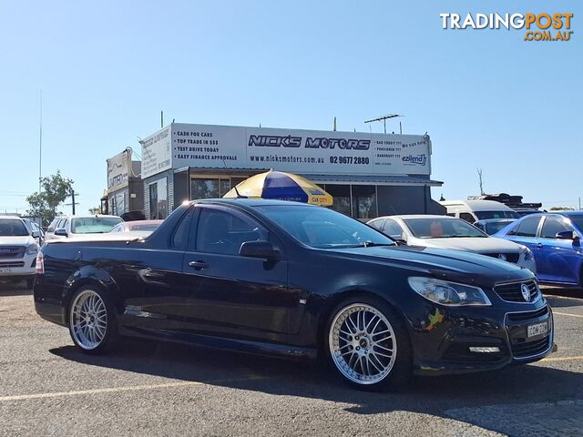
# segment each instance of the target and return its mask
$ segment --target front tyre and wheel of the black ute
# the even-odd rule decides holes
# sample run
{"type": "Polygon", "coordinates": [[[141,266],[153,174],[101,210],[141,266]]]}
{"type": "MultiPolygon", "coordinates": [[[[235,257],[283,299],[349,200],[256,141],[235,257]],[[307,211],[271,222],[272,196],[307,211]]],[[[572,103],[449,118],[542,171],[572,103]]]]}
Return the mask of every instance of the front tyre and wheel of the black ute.
{"type": "Polygon", "coordinates": [[[353,387],[386,391],[410,380],[413,352],[403,320],[384,300],[343,300],[326,325],[328,364],[353,387]]]}

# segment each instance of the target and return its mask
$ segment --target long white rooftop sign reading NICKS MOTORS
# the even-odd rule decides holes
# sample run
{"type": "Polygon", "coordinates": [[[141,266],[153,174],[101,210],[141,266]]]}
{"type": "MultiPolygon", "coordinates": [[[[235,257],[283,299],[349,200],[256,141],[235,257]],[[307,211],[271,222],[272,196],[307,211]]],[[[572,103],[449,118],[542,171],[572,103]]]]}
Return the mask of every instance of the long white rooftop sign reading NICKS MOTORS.
{"type": "Polygon", "coordinates": [[[186,167],[273,168],[330,175],[429,175],[431,141],[426,135],[179,123],[142,141],[142,178],[169,168],[186,167]]]}

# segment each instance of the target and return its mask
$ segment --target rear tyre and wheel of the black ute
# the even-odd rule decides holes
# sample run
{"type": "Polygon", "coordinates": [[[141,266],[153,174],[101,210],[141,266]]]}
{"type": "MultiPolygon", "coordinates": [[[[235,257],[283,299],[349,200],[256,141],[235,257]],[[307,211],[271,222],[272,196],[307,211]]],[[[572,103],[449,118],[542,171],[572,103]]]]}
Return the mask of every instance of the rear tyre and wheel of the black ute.
{"type": "Polygon", "coordinates": [[[93,287],[77,290],[68,311],[71,339],[79,351],[97,355],[118,342],[116,313],[107,294],[93,287]]]}

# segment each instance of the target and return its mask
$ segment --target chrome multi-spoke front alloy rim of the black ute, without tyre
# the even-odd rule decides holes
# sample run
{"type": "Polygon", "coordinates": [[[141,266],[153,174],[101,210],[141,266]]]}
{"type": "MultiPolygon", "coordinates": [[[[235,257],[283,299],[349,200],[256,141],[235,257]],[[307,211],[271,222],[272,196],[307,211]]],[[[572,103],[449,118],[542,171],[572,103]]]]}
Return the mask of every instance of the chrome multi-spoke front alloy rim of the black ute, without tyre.
{"type": "Polygon", "coordinates": [[[397,353],[394,330],[384,314],[366,303],[340,310],[330,328],[332,361],[343,376],[358,384],[382,381],[397,353]]]}

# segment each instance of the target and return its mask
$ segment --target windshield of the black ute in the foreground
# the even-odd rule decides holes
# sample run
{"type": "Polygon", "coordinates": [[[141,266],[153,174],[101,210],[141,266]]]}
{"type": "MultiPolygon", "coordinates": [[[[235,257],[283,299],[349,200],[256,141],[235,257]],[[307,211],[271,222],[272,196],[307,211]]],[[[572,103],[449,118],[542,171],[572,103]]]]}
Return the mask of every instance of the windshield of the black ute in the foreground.
{"type": "Polygon", "coordinates": [[[393,246],[392,239],[332,209],[293,205],[255,207],[294,239],[317,249],[393,246]]]}

